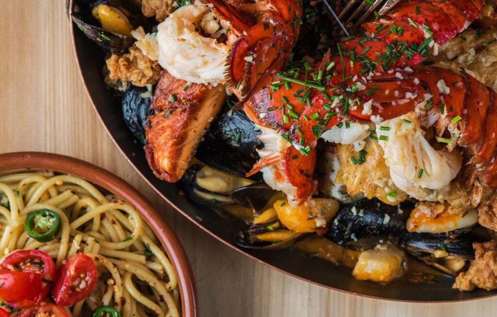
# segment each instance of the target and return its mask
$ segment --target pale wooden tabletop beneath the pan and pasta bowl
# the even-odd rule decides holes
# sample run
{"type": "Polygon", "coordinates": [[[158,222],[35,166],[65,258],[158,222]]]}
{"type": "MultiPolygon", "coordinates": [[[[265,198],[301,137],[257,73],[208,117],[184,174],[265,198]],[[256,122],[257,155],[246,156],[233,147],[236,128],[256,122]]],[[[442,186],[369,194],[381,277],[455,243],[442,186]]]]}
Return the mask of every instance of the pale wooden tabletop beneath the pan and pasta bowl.
{"type": "Polygon", "coordinates": [[[0,153],[82,158],[141,190],[183,242],[202,316],[497,316],[494,299],[411,304],[330,291],[259,264],[189,223],[138,175],[99,122],[76,67],[64,5],[0,0],[0,153]]]}

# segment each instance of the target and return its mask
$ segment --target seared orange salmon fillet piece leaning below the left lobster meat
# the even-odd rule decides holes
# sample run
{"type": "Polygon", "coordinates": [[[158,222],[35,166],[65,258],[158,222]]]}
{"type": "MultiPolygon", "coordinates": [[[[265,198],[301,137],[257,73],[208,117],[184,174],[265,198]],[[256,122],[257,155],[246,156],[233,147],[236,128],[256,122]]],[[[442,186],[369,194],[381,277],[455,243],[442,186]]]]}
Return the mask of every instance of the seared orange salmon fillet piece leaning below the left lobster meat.
{"type": "Polygon", "coordinates": [[[162,73],[145,127],[145,155],[158,178],[168,182],[181,178],[225,100],[224,85],[187,87],[185,80],[162,73]]]}

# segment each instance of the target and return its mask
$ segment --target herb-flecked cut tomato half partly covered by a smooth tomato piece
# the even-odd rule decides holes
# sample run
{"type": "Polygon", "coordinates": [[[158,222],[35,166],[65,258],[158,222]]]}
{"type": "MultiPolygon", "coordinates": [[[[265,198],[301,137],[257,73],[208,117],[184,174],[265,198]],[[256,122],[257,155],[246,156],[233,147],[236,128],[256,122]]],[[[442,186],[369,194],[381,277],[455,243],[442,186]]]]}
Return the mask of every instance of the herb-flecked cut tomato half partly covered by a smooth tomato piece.
{"type": "Polygon", "coordinates": [[[55,279],[55,263],[52,258],[40,250],[18,250],[9,254],[0,266],[10,271],[33,272],[41,274],[42,289],[35,297],[19,303],[8,303],[14,308],[26,308],[41,302],[50,293],[55,279]]]}

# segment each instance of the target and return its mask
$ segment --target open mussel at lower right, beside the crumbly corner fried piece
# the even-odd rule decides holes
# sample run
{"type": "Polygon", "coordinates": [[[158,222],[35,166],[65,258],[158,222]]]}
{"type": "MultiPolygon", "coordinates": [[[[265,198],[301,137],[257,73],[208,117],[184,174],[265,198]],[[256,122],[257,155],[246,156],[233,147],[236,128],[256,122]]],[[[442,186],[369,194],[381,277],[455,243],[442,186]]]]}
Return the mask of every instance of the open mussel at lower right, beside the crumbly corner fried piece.
{"type": "Polygon", "coordinates": [[[475,258],[472,241],[467,235],[411,233],[403,238],[402,246],[424,263],[457,276],[475,258]]]}

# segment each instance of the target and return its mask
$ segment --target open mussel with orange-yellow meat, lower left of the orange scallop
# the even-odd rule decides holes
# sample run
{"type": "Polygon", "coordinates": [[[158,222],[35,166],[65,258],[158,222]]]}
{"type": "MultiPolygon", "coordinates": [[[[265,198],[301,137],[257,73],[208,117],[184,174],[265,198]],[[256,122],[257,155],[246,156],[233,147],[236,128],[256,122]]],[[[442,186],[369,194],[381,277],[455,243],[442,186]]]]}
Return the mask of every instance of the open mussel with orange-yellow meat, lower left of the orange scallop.
{"type": "Polygon", "coordinates": [[[235,237],[235,243],[245,248],[277,250],[290,247],[305,236],[282,226],[276,210],[269,208],[256,217],[247,230],[235,237]]]}

